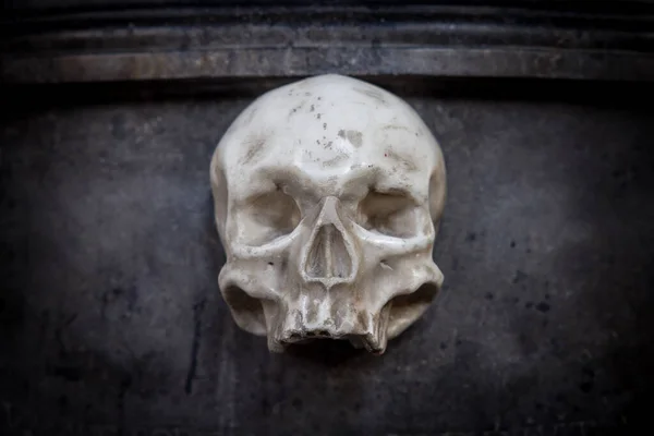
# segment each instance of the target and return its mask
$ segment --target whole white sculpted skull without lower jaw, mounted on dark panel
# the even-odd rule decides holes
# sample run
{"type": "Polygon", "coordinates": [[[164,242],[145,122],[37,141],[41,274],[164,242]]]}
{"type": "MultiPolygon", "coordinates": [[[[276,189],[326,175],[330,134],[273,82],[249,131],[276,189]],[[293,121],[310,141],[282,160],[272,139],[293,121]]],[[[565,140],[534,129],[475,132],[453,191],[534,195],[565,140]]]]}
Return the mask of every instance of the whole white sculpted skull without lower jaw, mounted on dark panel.
{"type": "Polygon", "coordinates": [[[237,324],[271,351],[334,338],[383,353],[443,283],[445,179],[428,128],[382,88],[323,75],[264,94],[211,160],[237,324]]]}

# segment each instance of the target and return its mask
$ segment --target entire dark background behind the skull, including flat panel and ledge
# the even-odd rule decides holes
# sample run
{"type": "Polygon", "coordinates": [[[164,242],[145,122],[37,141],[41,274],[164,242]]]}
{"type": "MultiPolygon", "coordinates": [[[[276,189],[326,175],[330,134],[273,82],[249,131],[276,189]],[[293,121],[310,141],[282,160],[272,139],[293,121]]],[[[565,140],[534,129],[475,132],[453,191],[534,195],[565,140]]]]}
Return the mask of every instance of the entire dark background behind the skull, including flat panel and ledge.
{"type": "Polygon", "coordinates": [[[638,434],[652,3],[227,3],[4,2],[0,435],[638,434]],[[382,358],[269,354],[216,283],[216,143],[327,71],[407,98],[448,165],[445,290],[382,358]]]}

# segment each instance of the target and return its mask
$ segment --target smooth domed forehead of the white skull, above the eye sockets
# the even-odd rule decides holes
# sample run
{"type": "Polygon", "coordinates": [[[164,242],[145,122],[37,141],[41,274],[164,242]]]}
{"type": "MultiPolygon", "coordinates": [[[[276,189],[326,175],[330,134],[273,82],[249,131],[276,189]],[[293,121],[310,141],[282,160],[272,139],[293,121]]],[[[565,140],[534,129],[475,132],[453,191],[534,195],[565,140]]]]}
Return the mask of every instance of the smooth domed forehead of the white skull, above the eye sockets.
{"type": "Polygon", "coordinates": [[[336,182],[370,168],[408,187],[422,182],[426,189],[439,158],[435,140],[409,105],[339,75],[307,78],[259,97],[218,148],[223,161],[239,162],[225,168],[228,183],[252,181],[263,168],[294,169],[336,182]]]}

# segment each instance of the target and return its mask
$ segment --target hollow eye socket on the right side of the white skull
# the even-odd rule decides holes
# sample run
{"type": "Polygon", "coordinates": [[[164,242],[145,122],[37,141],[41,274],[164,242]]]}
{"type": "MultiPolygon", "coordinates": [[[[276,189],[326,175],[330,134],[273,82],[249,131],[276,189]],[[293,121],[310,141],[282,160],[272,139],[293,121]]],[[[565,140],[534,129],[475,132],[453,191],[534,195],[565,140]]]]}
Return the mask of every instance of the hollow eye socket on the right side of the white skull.
{"type": "Polygon", "coordinates": [[[408,238],[415,233],[416,208],[405,194],[371,191],[359,204],[358,220],[366,230],[408,238]]]}

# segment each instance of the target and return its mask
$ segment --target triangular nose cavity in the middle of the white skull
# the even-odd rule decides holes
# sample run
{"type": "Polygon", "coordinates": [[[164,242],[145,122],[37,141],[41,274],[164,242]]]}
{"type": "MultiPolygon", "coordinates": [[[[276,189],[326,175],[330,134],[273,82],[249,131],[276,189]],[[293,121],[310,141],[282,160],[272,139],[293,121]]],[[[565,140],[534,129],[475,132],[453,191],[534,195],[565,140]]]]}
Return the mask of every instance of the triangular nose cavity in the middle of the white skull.
{"type": "Polygon", "coordinates": [[[305,274],[314,279],[346,278],[352,272],[352,257],[348,253],[342,232],[332,223],[318,228],[306,258],[305,274]]]}

